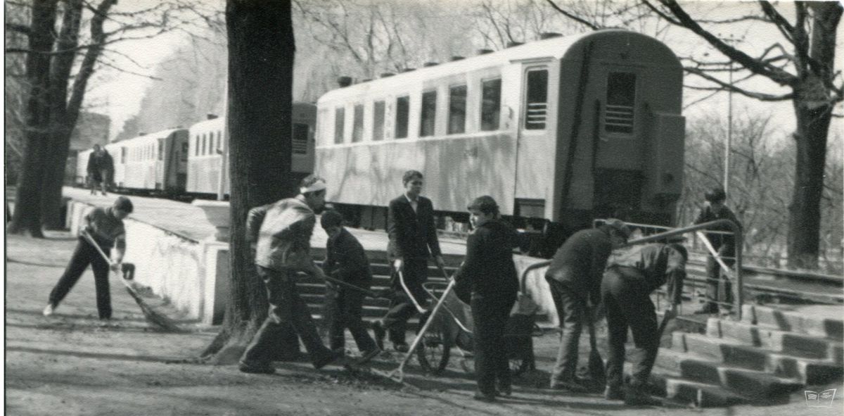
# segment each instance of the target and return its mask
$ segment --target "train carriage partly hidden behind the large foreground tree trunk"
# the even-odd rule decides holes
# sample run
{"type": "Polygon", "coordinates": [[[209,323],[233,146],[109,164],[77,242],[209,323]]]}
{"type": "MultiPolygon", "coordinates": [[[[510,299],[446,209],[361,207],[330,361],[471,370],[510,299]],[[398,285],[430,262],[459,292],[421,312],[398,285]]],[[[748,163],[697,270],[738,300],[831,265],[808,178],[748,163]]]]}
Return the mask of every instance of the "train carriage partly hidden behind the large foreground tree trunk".
{"type": "MultiPolygon", "coordinates": [[[[313,172],[314,131],[317,124],[317,106],[294,102],[292,107],[292,172],[304,178],[313,172]]],[[[229,194],[229,180],[220,183],[220,174],[229,177],[228,166],[222,170],[223,153],[228,147],[229,135],[225,118],[210,117],[193,124],[190,129],[190,149],[187,156],[187,192],[192,194],[229,194]]]]}

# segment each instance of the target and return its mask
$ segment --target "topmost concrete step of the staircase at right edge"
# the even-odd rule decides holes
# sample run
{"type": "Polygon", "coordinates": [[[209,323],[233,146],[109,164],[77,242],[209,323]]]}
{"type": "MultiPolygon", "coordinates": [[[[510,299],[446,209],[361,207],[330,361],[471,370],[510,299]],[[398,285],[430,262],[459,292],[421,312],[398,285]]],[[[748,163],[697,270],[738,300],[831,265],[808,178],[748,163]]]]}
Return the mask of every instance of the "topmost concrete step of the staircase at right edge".
{"type": "Polygon", "coordinates": [[[844,306],[794,306],[793,310],[784,308],[745,304],[742,307],[742,320],[781,331],[798,332],[839,341],[844,339],[844,318],[842,318],[844,306]]]}

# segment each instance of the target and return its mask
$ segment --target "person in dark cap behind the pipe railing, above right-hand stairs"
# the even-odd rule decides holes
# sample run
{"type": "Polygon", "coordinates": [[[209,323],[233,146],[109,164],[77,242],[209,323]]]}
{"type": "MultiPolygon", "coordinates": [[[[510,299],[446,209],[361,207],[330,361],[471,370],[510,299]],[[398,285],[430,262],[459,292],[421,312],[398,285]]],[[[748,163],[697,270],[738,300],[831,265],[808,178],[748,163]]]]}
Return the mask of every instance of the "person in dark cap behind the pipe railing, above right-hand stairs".
{"type": "MultiPolygon", "coordinates": [[[[702,224],[704,222],[712,222],[717,220],[730,220],[741,228],[741,222],[738,222],[733,211],[724,201],[727,200],[727,194],[724,190],[717,186],[710,189],[704,194],[706,205],[701,208],[695,218],[695,224],[702,224]]],[[[717,231],[720,233],[706,233],[706,239],[712,245],[712,249],[718,254],[718,257],[723,260],[725,265],[732,266],[735,262],[736,239],[733,235],[733,230],[728,226],[716,226],[707,228],[710,231],[717,231]]],[[[717,314],[718,304],[732,304],[733,302],[733,288],[730,284],[727,273],[722,272],[721,265],[718,264],[715,256],[709,250],[706,250],[706,304],[701,309],[695,311],[695,314],[717,314]],[[718,295],[718,282],[723,282],[724,298],[718,295]]],[[[728,308],[727,305],[725,305],[728,308]]]]}

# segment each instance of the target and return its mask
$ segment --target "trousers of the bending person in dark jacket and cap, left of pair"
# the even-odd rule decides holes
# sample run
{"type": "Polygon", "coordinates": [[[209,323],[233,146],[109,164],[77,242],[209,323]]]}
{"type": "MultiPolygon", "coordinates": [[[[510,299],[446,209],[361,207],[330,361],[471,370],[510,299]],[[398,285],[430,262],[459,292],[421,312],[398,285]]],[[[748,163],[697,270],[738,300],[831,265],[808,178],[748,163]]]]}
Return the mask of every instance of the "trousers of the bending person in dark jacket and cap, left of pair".
{"type": "Polygon", "coordinates": [[[570,382],[575,379],[577,370],[577,346],[583,330],[583,317],[586,315],[586,299],[572,291],[565,284],[554,279],[545,279],[551,288],[551,298],[560,318],[560,349],[557,362],[551,373],[551,384],[570,382]]]}

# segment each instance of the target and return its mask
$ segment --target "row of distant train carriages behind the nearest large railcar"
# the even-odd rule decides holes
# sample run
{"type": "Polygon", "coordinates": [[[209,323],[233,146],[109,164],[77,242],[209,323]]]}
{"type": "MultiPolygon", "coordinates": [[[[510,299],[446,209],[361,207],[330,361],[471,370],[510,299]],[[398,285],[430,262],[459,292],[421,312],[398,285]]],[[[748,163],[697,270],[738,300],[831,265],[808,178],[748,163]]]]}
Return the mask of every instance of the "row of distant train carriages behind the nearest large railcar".
{"type": "MultiPolygon", "coordinates": [[[[313,171],[317,107],[294,102],[292,107],[292,170],[297,178],[313,171]]],[[[165,194],[171,197],[213,197],[220,191],[220,167],[229,136],[225,118],[209,115],[190,129],[168,129],[106,145],[114,159],[113,183],[118,191],[165,194]]],[[[84,186],[91,151],[80,151],[75,183],[84,186]]],[[[228,167],[226,167],[228,175],[228,167]]],[[[223,193],[229,181],[223,178],[223,193]]]]}

